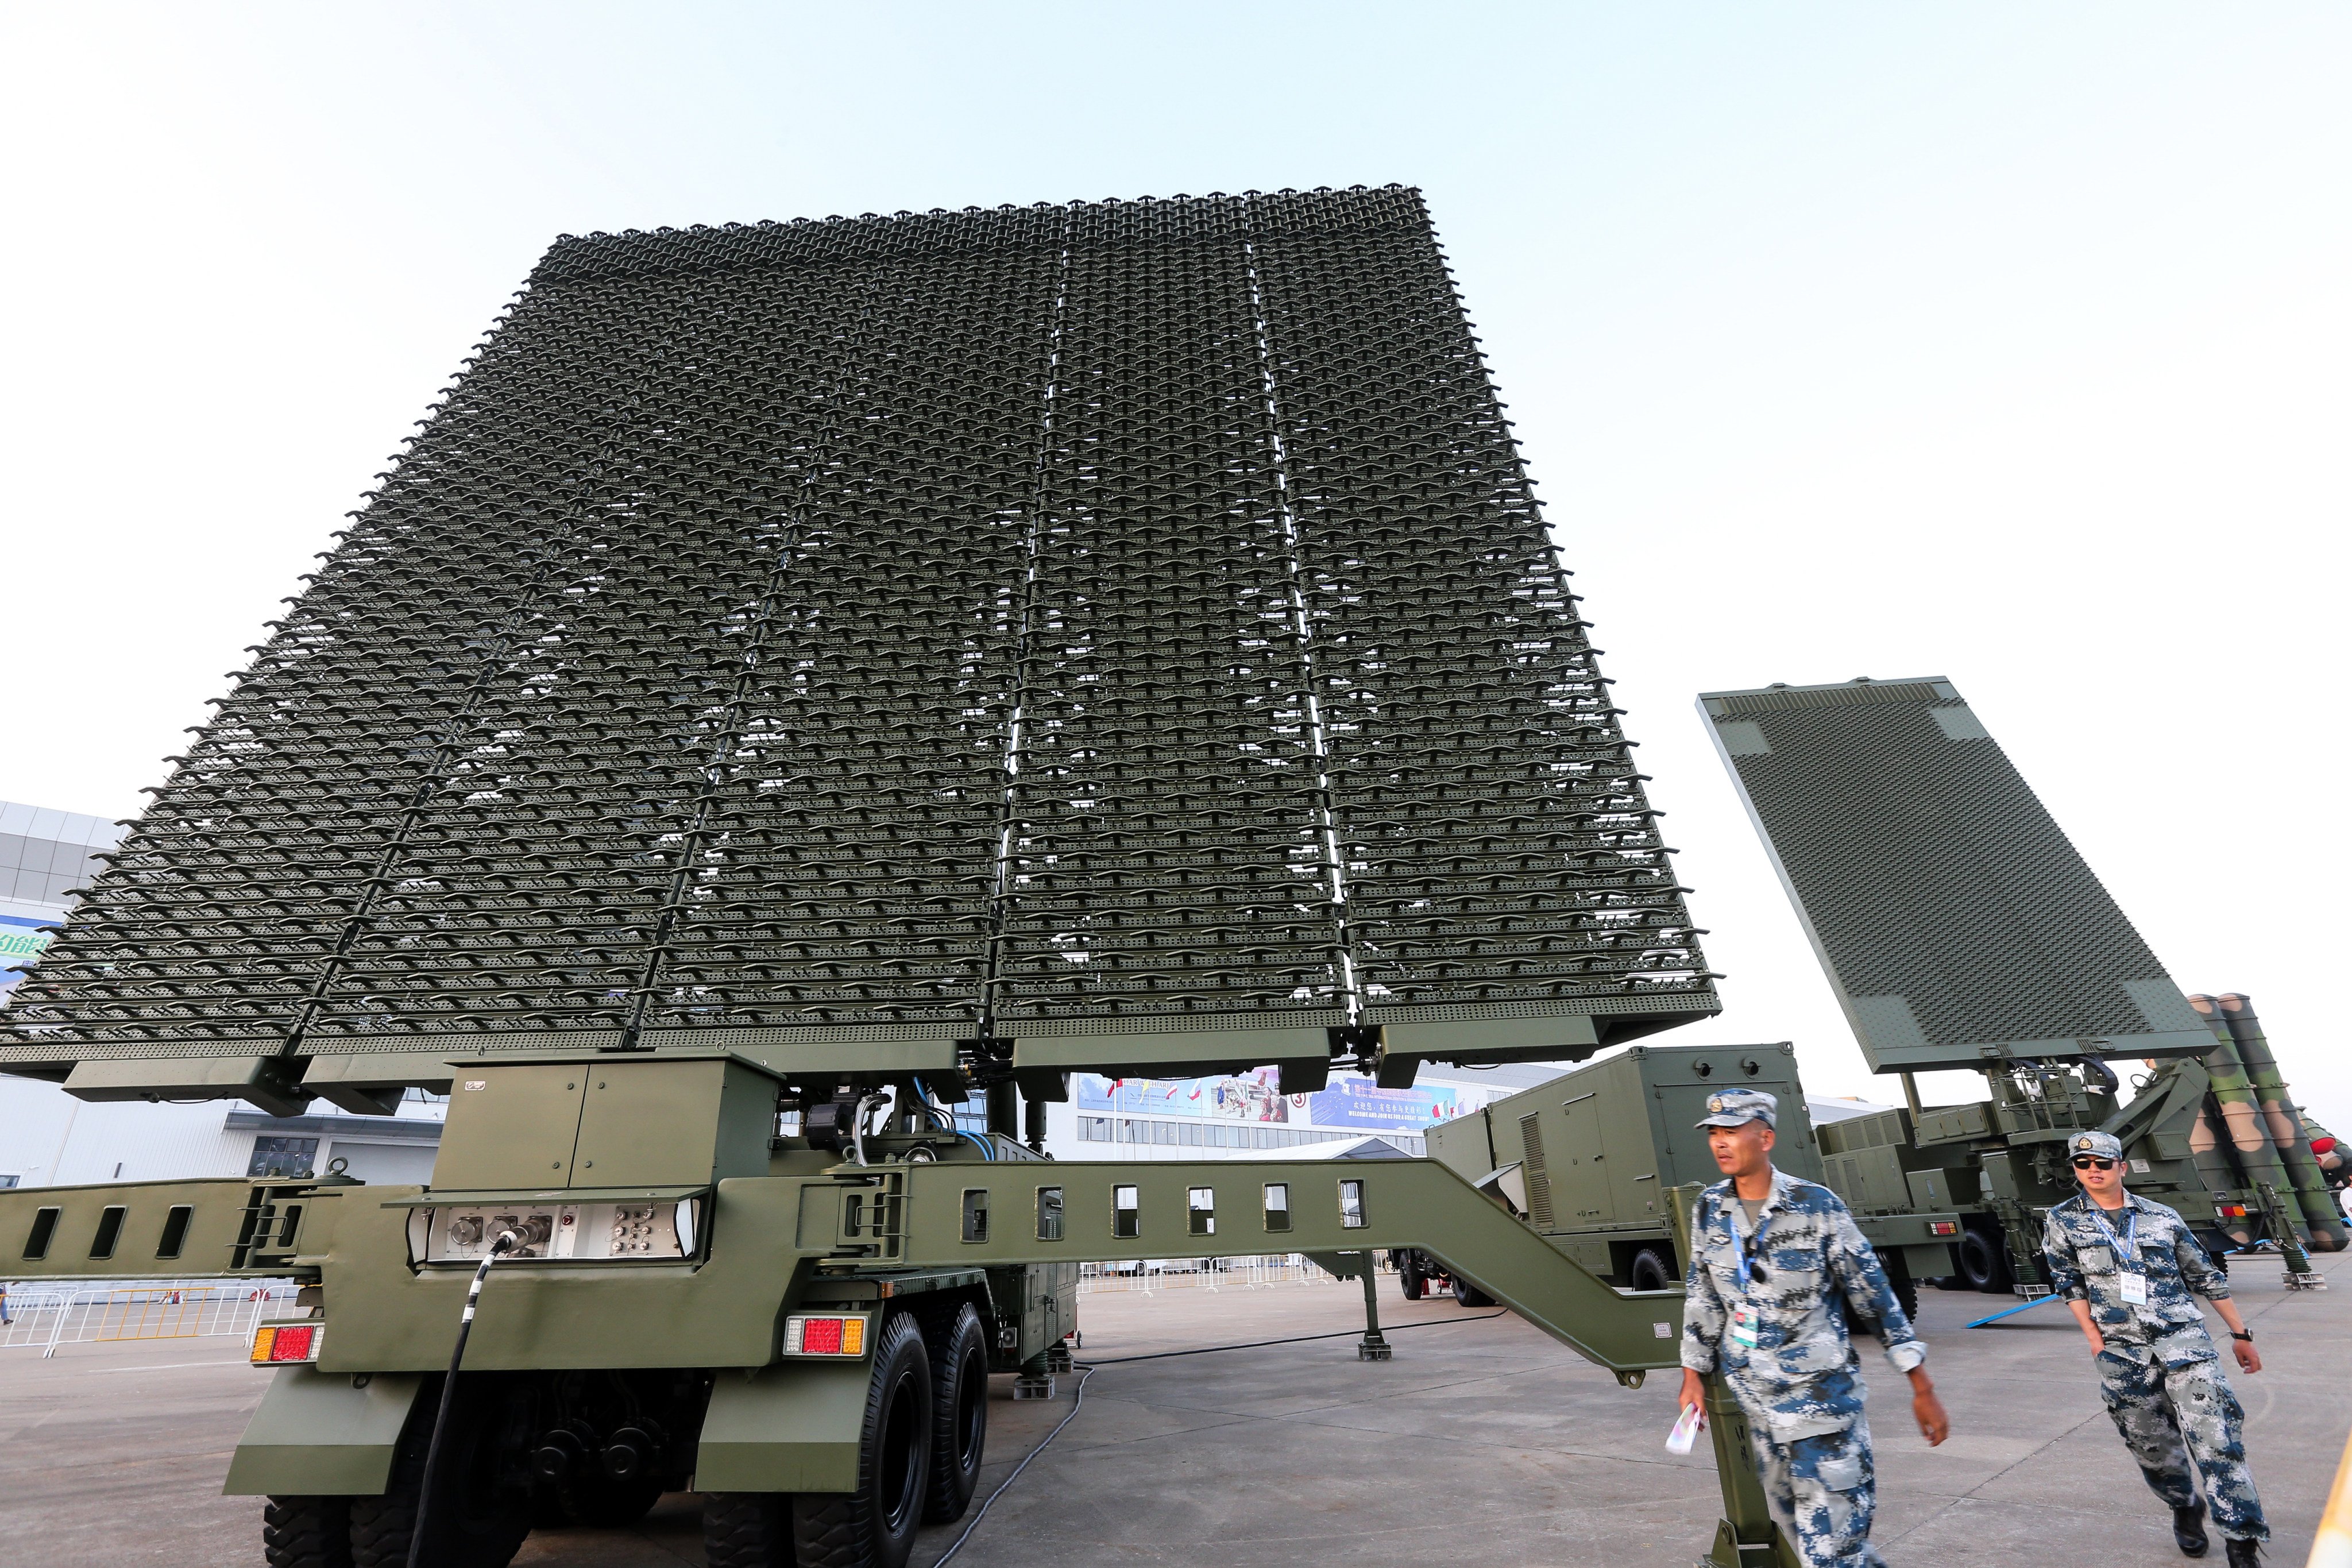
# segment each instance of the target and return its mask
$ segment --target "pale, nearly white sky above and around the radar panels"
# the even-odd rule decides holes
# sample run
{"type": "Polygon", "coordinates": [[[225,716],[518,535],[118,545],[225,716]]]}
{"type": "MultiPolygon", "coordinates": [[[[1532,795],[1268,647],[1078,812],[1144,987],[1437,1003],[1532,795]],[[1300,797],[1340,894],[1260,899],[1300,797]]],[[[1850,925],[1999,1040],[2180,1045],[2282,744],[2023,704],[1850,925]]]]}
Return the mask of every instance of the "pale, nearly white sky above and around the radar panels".
{"type": "Polygon", "coordinates": [[[1731,976],[1682,1037],[1891,1091],[1691,696],[1947,675],[2352,1133],[2347,80],[2340,5],[14,5],[0,797],[136,809],[555,233],[1411,181],[1731,976]]]}

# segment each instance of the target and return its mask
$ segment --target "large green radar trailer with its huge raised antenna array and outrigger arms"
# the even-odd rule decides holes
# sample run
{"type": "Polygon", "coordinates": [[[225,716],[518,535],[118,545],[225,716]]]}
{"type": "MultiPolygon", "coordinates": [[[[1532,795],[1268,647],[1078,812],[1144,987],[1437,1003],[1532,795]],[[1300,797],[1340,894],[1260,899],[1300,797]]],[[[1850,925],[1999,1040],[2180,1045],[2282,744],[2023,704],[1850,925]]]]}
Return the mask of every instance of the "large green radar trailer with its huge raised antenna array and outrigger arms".
{"type": "Polygon", "coordinates": [[[1442,1161],[1040,1157],[1075,1070],[1712,1016],[1585,625],[1414,190],[564,237],[0,1016],[87,1100],[447,1093],[430,1185],[0,1246],[299,1281],[278,1568],[680,1486],[713,1568],[896,1568],[1089,1260],[1423,1248],[1639,1382],[1679,1293],[1442,1161]]]}

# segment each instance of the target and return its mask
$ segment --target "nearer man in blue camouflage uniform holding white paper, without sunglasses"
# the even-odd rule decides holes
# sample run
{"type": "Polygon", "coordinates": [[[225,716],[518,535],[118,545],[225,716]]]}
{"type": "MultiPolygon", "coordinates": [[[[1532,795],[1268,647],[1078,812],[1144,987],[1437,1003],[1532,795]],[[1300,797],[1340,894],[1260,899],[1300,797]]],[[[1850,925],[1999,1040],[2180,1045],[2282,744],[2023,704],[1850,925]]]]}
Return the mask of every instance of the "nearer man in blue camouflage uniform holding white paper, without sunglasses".
{"type": "Polygon", "coordinates": [[[1912,1382],[1929,1443],[1950,1422],[1877,1253],[1837,1194],[1771,1168],[1778,1100],[1755,1088],[1708,1098],[1708,1147],[1729,1180],[1691,1211],[1689,1302],[1682,1312],[1682,1403],[1705,1408],[1719,1371],[1755,1446],[1773,1519],[1806,1563],[1882,1563],[1870,1547],[1877,1476],[1863,1415],[1860,1361],[1846,1312],[1870,1319],[1886,1359],[1912,1382]]]}

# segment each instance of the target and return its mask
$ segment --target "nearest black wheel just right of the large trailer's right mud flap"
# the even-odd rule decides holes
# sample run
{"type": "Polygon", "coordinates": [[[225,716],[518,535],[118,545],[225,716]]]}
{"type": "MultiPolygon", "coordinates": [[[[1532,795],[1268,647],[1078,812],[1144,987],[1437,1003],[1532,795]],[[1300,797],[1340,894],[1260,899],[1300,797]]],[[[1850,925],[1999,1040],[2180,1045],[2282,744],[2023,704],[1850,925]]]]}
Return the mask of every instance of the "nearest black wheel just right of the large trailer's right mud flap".
{"type": "Polygon", "coordinates": [[[931,1472],[931,1356],[894,1312],[875,1345],[858,1429],[858,1488],[793,1497],[800,1568],[906,1568],[931,1472]]]}

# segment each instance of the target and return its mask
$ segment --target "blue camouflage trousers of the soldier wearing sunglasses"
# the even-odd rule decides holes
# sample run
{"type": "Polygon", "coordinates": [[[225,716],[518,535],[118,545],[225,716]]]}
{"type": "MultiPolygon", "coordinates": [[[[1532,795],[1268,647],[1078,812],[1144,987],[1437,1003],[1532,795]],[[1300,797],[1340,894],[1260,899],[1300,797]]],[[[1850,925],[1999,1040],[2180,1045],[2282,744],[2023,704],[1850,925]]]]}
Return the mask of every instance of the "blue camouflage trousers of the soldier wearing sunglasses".
{"type": "Polygon", "coordinates": [[[2143,1366],[2107,1349],[2098,1354],[2098,1396],[2164,1507],[2197,1505],[2194,1462],[2213,1526],[2223,1535],[2270,1540],[2263,1500],[2246,1472],[2246,1410],[2230,1392],[2220,1361],[2143,1366]]]}

